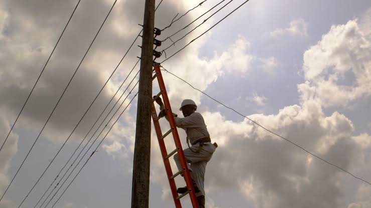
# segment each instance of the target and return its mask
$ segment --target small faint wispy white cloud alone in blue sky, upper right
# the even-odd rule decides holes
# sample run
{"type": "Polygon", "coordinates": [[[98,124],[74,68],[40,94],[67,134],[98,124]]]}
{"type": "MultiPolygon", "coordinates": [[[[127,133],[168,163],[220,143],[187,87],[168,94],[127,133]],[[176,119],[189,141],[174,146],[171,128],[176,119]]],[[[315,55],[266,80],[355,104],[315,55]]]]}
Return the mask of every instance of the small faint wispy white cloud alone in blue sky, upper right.
{"type": "Polygon", "coordinates": [[[276,28],[270,32],[270,36],[273,38],[279,38],[286,34],[292,36],[307,36],[307,23],[303,19],[296,19],[289,23],[288,28],[276,28]]]}

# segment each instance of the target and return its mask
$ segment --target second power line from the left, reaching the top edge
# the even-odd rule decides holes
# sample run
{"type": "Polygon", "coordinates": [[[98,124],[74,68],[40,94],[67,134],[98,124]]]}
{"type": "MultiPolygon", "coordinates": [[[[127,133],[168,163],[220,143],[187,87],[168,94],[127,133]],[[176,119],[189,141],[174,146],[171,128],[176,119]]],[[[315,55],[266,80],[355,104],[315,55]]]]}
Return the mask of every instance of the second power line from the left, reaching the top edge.
{"type": "Polygon", "coordinates": [[[21,169],[21,167],[23,166],[24,162],[26,161],[26,159],[27,159],[28,155],[30,154],[30,152],[31,152],[32,148],[33,148],[33,147],[35,146],[35,144],[36,144],[36,141],[37,141],[37,140],[39,139],[39,137],[40,137],[41,133],[43,132],[43,130],[44,130],[44,128],[45,128],[45,126],[46,126],[46,124],[47,124],[47,123],[49,122],[50,118],[52,117],[52,115],[53,115],[53,113],[54,113],[55,109],[57,108],[57,106],[58,106],[59,102],[61,101],[61,99],[62,99],[62,97],[63,97],[64,93],[66,92],[66,90],[67,90],[68,86],[70,85],[70,83],[71,83],[72,79],[74,78],[74,76],[75,76],[75,74],[76,74],[77,70],[78,70],[78,69],[80,68],[80,65],[81,65],[82,61],[83,61],[83,60],[84,60],[84,58],[86,57],[86,54],[87,54],[87,53],[89,52],[89,50],[90,50],[91,46],[93,45],[93,43],[94,43],[94,41],[95,41],[96,37],[98,36],[98,34],[99,34],[100,30],[102,29],[102,27],[103,27],[103,25],[104,25],[105,21],[107,20],[107,18],[108,18],[108,16],[109,16],[109,14],[111,13],[111,11],[112,11],[112,9],[113,9],[114,5],[116,4],[116,2],[117,2],[117,0],[115,0],[115,1],[114,1],[114,3],[113,3],[113,5],[112,5],[111,9],[109,10],[109,12],[108,12],[107,16],[105,17],[105,19],[104,19],[104,21],[103,21],[102,25],[100,26],[100,28],[99,28],[98,32],[97,32],[97,33],[96,33],[96,35],[95,35],[95,37],[94,37],[93,41],[92,41],[92,42],[90,43],[90,46],[89,46],[89,48],[87,49],[86,53],[84,54],[83,58],[81,59],[81,61],[80,61],[79,65],[77,66],[77,68],[76,68],[75,72],[73,73],[73,75],[72,75],[72,77],[71,77],[70,81],[68,82],[67,86],[66,86],[66,87],[65,87],[65,89],[63,90],[63,93],[62,93],[62,95],[61,95],[61,96],[59,97],[59,100],[58,100],[57,104],[56,104],[56,105],[54,106],[54,108],[53,108],[53,111],[52,111],[52,112],[50,113],[50,115],[49,115],[49,117],[48,117],[47,121],[45,122],[45,124],[44,124],[43,128],[41,129],[41,131],[40,131],[39,135],[37,136],[36,140],[35,140],[35,141],[34,141],[34,143],[32,144],[32,146],[31,146],[31,149],[30,149],[30,150],[29,150],[29,152],[27,153],[27,155],[26,155],[25,159],[23,160],[23,162],[22,162],[21,166],[20,166],[20,167],[18,168],[18,170],[17,170],[16,174],[14,175],[14,177],[13,177],[13,179],[11,180],[11,182],[9,183],[9,185],[8,185],[7,189],[5,190],[5,192],[3,193],[2,197],[0,198],[0,201],[1,201],[2,199],[3,199],[3,197],[4,197],[5,193],[6,193],[7,191],[8,191],[8,189],[9,189],[9,187],[11,186],[11,184],[12,184],[12,182],[13,182],[14,178],[15,178],[15,177],[17,176],[17,174],[18,174],[19,170],[21,169]]]}

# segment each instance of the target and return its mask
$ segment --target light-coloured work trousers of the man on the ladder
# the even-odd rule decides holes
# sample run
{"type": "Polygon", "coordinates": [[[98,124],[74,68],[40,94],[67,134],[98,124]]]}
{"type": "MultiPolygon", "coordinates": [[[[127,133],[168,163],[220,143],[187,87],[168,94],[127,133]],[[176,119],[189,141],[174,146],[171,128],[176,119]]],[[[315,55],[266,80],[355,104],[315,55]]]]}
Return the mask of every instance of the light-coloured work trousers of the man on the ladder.
{"type": "MultiPolygon", "coordinates": [[[[187,161],[187,166],[190,171],[193,172],[194,180],[200,189],[200,192],[196,194],[196,196],[205,195],[204,189],[204,181],[205,181],[205,171],[206,171],[206,164],[210,161],[212,154],[214,153],[216,147],[211,142],[203,143],[202,148],[199,149],[200,144],[194,144],[190,148],[184,149],[184,157],[187,161]],[[194,151],[192,151],[192,150],[194,151]]],[[[180,164],[178,153],[174,155],[175,163],[179,170],[183,169],[182,165],[180,164]]]]}

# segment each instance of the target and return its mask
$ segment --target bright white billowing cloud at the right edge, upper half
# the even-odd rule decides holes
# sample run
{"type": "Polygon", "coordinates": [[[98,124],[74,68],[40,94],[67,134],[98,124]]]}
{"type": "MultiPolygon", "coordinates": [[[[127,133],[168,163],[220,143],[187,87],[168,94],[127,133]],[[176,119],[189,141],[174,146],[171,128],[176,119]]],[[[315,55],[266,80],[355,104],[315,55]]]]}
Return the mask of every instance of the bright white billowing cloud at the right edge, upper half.
{"type": "Polygon", "coordinates": [[[315,99],[325,107],[346,107],[371,95],[370,41],[357,20],[332,26],[304,53],[307,81],[298,86],[302,99],[315,99]]]}

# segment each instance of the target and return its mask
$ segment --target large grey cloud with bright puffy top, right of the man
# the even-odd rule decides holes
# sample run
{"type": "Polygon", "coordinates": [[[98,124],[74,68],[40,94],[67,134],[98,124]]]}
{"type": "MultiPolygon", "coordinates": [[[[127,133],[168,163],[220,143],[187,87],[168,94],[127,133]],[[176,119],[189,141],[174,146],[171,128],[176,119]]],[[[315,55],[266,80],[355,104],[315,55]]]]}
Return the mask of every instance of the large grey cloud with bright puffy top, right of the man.
{"type": "MultiPolygon", "coordinates": [[[[207,171],[213,174],[208,174],[206,184],[211,188],[239,188],[257,207],[337,206],[336,200],[341,197],[337,183],[343,172],[247,119],[234,123],[220,121],[217,118],[221,115],[216,112],[203,115],[213,141],[225,138],[218,142],[208,165],[207,171]]],[[[250,118],[345,169],[359,156],[360,146],[349,139],[352,123],[338,113],[324,116],[316,103],[287,106],[277,115],[250,118]]]]}

